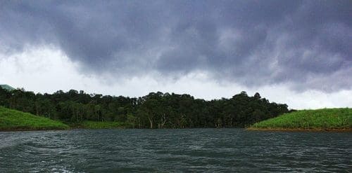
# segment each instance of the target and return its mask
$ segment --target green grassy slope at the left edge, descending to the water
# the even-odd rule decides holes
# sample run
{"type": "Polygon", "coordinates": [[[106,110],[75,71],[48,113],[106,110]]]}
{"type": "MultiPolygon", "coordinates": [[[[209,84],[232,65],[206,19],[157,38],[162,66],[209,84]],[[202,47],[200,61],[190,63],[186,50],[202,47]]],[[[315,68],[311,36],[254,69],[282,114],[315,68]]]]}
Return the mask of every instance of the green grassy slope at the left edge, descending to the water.
{"type": "Polygon", "coordinates": [[[0,130],[65,130],[68,125],[0,106],[0,130]]]}

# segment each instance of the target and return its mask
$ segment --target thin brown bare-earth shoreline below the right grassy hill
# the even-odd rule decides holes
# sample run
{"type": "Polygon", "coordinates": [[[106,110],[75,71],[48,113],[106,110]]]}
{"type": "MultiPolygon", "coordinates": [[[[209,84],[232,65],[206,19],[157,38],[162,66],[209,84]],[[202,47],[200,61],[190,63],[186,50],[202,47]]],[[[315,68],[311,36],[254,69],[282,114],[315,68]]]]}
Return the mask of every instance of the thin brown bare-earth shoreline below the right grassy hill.
{"type": "Polygon", "coordinates": [[[301,128],[256,128],[249,127],[246,130],[251,131],[272,131],[272,132],[352,132],[352,128],[315,128],[315,129],[301,129],[301,128]]]}

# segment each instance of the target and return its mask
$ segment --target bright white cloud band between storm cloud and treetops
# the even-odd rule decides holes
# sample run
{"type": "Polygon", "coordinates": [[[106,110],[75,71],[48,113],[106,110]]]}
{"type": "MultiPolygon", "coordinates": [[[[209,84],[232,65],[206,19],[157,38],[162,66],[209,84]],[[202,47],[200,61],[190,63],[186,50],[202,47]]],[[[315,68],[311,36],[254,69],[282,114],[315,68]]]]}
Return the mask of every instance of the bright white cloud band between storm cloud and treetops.
{"type": "Polygon", "coordinates": [[[281,102],[291,109],[347,107],[352,105],[351,90],[325,93],[319,90],[292,91],[287,85],[266,85],[247,88],[239,83],[219,83],[205,71],[195,71],[173,79],[151,73],[140,77],[83,75],[80,64],[72,62],[61,50],[54,47],[28,47],[23,52],[7,55],[0,53],[0,83],[25,88],[34,92],[57,90],[84,90],[88,93],[139,97],[149,92],[175,92],[194,95],[196,98],[220,99],[232,97],[242,90],[253,95],[259,92],[272,102],[281,102]]]}

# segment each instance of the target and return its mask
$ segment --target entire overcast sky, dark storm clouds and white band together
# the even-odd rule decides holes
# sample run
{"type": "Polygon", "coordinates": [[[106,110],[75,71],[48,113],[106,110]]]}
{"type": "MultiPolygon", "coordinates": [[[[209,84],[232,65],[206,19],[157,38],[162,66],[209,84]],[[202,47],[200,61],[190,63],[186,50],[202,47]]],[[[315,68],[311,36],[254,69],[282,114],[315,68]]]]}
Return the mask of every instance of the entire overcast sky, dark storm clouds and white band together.
{"type": "Polygon", "coordinates": [[[0,84],[352,107],[352,1],[2,1],[0,84]]]}

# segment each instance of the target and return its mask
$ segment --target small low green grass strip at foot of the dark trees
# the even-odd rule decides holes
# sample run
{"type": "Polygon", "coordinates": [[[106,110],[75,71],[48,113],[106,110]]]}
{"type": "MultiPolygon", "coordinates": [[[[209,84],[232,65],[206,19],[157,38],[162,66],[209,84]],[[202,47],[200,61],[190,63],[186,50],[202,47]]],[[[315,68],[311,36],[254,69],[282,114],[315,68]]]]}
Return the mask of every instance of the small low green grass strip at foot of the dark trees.
{"type": "Polygon", "coordinates": [[[115,129],[115,128],[125,128],[130,127],[127,123],[121,123],[116,121],[92,121],[84,120],[80,127],[84,129],[115,129]]]}

